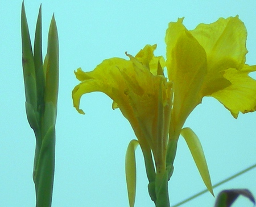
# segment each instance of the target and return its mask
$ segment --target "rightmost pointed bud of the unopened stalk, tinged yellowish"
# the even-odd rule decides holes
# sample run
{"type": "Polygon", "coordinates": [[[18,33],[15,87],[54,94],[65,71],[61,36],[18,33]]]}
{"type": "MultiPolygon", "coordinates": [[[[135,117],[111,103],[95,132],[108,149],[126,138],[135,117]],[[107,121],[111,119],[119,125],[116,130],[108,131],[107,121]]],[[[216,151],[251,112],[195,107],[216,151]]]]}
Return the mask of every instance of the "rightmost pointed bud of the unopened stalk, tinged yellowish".
{"type": "Polygon", "coordinates": [[[44,101],[56,106],[59,90],[59,40],[54,15],[49,27],[47,57],[44,101]]]}

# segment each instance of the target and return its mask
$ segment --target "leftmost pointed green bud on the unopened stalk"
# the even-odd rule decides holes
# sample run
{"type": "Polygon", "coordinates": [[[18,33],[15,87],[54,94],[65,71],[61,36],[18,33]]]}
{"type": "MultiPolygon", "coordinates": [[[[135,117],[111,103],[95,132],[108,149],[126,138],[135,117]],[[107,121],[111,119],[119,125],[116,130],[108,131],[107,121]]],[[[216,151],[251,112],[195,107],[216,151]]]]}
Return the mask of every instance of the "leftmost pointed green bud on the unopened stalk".
{"type": "Polygon", "coordinates": [[[28,30],[24,2],[22,2],[21,31],[22,31],[22,67],[23,67],[26,101],[28,103],[31,103],[32,107],[36,109],[37,101],[36,101],[36,76],[35,76],[34,57],[32,53],[30,32],[28,30]]]}

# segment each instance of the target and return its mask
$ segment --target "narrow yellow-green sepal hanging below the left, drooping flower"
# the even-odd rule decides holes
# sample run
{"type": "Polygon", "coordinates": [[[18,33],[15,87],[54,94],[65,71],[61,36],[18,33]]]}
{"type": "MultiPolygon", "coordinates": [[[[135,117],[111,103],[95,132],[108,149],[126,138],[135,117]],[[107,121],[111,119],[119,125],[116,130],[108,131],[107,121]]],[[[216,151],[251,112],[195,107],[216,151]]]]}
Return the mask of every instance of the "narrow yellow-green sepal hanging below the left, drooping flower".
{"type": "Polygon", "coordinates": [[[125,156],[125,174],[126,174],[126,184],[129,198],[130,207],[134,206],[135,194],[136,194],[136,160],[135,160],[135,150],[139,142],[135,139],[131,140],[126,151],[125,156]]]}

